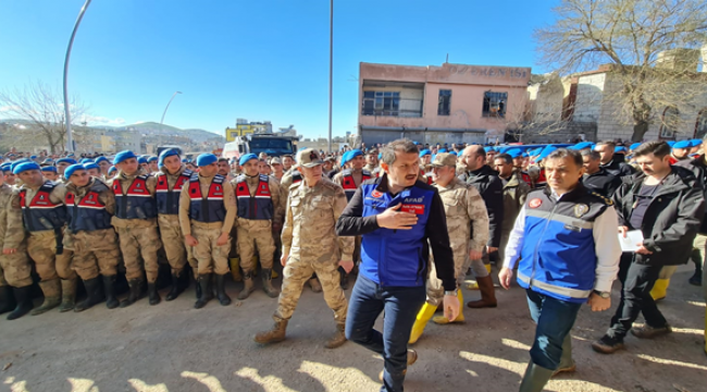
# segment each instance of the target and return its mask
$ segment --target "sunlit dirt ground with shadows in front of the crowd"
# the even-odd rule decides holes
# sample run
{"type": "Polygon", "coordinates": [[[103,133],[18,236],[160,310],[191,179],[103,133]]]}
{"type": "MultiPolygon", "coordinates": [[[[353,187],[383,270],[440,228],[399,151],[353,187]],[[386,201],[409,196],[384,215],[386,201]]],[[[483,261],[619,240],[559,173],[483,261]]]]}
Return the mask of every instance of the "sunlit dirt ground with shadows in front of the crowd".
{"type": "MultiPolygon", "coordinates": [[[[616,287],[611,311],[584,308],[572,332],[578,371],[558,377],[546,391],[707,391],[705,301],[700,287],[686,283],[691,274],[692,266],[681,267],[659,305],[674,333],[656,341],[629,335],[628,350],[615,355],[596,354],[590,343],[607,328],[616,287]]],[[[82,314],[2,317],[0,391],[379,390],[381,358],[350,342],[323,347],[334,321],[321,294],[306,289],[287,340],[260,346],[252,338],[271,326],[276,299],[258,291],[238,303],[239,290],[240,283],[228,286],[231,306],[212,301],[200,310],[193,308],[189,289],[158,306],[141,299],[125,309],[99,305],[82,314]]],[[[466,301],[476,297],[479,292],[464,291],[466,301]]],[[[464,308],[464,324],[430,323],[414,345],[420,359],[408,370],[406,391],[517,391],[534,326],[521,289],[498,292],[498,301],[495,309],[464,308]]]]}

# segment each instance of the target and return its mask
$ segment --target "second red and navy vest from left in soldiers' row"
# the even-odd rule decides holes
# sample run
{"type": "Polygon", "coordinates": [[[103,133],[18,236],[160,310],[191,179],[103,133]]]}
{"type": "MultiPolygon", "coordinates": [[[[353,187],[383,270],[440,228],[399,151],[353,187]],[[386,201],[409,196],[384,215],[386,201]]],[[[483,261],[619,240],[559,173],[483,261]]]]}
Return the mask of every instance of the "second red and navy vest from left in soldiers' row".
{"type": "Polygon", "coordinates": [[[66,192],[65,203],[69,211],[69,229],[79,231],[96,231],[112,229],[111,215],[106,211],[106,205],[99,200],[99,195],[110,191],[108,186],[95,180],[94,185],[79,200],[72,192],[66,192]]]}

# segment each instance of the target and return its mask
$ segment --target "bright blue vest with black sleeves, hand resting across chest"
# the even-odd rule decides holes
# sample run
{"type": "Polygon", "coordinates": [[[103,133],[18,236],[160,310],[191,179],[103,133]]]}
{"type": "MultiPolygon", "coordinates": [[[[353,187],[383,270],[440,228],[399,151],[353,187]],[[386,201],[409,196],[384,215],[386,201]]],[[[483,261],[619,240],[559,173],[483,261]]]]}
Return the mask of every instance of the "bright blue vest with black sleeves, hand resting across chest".
{"type": "Polygon", "coordinates": [[[425,226],[435,189],[417,182],[392,197],[388,193],[376,191],[376,182],[380,180],[361,184],[362,217],[375,216],[401,204],[401,211],[418,215],[418,223],[411,230],[381,228],[363,234],[360,271],[382,286],[423,286],[430,258],[425,226]]]}

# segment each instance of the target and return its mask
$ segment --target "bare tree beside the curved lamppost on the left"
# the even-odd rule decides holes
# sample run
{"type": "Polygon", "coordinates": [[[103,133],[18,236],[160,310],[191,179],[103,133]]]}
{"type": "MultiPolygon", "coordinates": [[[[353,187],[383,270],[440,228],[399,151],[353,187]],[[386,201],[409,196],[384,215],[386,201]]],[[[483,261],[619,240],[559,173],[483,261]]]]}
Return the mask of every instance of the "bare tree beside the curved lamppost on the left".
{"type": "MultiPolygon", "coordinates": [[[[61,89],[41,82],[30,82],[22,89],[0,91],[0,108],[4,117],[24,120],[25,132],[46,140],[51,152],[64,150],[66,124],[61,89]]],[[[70,101],[70,111],[73,123],[87,112],[87,107],[74,96],[70,101]]]]}

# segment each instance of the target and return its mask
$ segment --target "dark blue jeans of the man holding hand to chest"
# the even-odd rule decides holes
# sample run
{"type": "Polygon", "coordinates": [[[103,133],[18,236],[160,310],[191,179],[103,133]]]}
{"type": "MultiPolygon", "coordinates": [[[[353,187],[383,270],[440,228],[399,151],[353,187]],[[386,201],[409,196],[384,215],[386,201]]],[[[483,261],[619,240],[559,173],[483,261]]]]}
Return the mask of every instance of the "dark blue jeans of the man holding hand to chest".
{"type": "Polygon", "coordinates": [[[408,340],[425,297],[424,286],[383,287],[362,275],[356,280],[346,317],[346,339],[383,356],[381,391],[402,391],[408,340]],[[381,311],[385,311],[383,333],[373,329],[381,311]]]}

